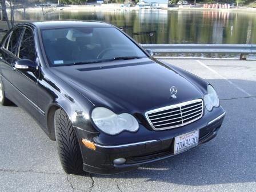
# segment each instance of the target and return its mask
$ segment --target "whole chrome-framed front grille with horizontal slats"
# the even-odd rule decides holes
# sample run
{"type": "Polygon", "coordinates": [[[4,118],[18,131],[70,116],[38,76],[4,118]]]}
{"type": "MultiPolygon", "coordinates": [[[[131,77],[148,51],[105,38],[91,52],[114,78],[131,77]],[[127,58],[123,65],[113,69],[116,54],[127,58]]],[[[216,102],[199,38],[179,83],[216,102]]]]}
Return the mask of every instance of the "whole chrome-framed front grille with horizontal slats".
{"type": "Polygon", "coordinates": [[[197,121],[203,115],[202,99],[195,99],[146,112],[154,130],[172,129],[197,121]]]}

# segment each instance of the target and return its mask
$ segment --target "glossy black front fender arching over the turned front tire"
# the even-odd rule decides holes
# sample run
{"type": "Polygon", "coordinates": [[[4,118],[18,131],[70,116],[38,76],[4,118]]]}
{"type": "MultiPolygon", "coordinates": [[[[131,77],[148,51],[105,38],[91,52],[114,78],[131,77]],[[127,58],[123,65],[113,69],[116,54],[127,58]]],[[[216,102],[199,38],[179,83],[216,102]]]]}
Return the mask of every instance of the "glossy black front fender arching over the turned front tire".
{"type": "MultiPolygon", "coordinates": [[[[46,71],[44,70],[44,72],[46,71]]],[[[49,71],[46,73],[48,72],[49,71]]],[[[51,87],[51,90],[55,90],[54,93],[51,93],[53,101],[51,101],[47,106],[45,111],[45,121],[42,122],[46,127],[47,135],[50,139],[55,141],[54,114],[58,109],[65,111],[74,127],[88,131],[89,133],[98,133],[98,131],[92,126],[91,119],[89,118],[93,104],[79,93],[74,96],[74,92],[77,91],[75,91],[71,86],[63,85],[64,83],[59,80],[60,79],[58,79],[58,83],[53,81],[49,82],[44,78],[39,80],[39,84],[41,84],[44,89],[46,87],[51,87]],[[53,89],[53,85],[55,89],[53,89]],[[65,92],[63,92],[63,90],[65,90],[65,92]],[[73,96],[69,93],[73,93],[73,96]]]]}

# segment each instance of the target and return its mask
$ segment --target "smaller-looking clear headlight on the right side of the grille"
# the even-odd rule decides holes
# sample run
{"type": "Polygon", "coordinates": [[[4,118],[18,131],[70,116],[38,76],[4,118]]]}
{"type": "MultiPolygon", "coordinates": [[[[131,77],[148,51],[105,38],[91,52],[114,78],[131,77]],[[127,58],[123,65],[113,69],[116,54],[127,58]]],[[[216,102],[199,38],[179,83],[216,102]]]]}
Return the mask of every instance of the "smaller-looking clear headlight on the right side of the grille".
{"type": "Polygon", "coordinates": [[[204,97],[205,106],[208,111],[211,111],[213,107],[219,106],[219,98],[213,86],[208,85],[207,92],[208,93],[204,97]]]}

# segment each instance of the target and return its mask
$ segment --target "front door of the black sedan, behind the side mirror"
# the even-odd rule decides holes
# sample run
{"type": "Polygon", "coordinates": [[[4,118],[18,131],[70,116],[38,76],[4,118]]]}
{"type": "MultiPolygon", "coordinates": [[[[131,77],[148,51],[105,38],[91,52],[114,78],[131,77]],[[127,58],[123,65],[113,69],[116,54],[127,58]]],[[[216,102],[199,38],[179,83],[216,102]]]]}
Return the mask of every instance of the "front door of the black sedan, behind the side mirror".
{"type": "Polygon", "coordinates": [[[23,106],[29,113],[35,118],[39,119],[39,115],[42,115],[42,110],[38,107],[38,90],[37,82],[39,72],[35,71],[21,71],[14,67],[15,61],[18,59],[30,59],[37,67],[37,53],[35,50],[35,39],[33,30],[27,27],[23,31],[21,41],[19,43],[17,51],[17,59],[13,60],[13,73],[12,81],[15,89],[17,89],[17,102],[23,106]]]}

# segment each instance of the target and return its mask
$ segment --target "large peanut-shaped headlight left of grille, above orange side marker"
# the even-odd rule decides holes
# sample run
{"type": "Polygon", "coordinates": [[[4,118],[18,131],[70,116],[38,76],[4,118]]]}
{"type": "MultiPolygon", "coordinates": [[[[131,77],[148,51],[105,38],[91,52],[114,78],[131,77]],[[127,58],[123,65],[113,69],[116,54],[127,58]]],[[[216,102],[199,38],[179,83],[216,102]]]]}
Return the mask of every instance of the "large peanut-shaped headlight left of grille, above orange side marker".
{"type": "Polygon", "coordinates": [[[104,107],[93,109],[91,118],[100,130],[110,135],[116,135],[125,130],[135,132],[139,129],[139,123],[133,115],[128,113],[118,115],[104,107]]]}

